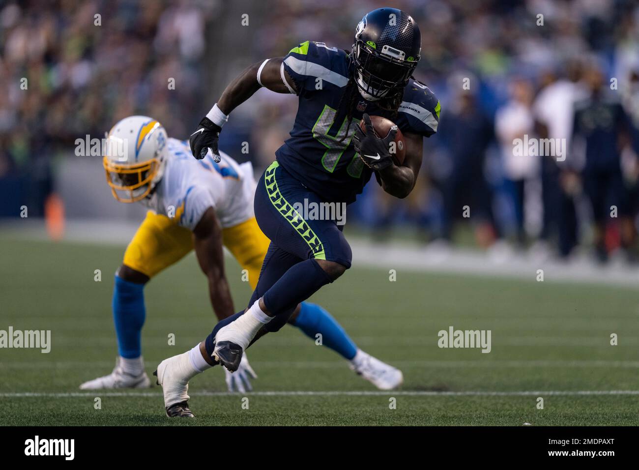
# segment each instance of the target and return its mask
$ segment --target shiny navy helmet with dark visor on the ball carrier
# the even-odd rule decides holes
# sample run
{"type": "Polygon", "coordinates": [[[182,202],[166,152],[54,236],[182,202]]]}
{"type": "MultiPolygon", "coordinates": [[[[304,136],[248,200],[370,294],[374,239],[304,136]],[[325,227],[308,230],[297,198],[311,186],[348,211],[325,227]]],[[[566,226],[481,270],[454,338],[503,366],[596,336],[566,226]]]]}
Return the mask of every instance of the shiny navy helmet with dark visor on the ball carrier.
{"type": "Polygon", "coordinates": [[[401,97],[422,47],[415,20],[397,8],[378,8],[357,24],[351,61],[362,97],[369,101],[401,97]]]}

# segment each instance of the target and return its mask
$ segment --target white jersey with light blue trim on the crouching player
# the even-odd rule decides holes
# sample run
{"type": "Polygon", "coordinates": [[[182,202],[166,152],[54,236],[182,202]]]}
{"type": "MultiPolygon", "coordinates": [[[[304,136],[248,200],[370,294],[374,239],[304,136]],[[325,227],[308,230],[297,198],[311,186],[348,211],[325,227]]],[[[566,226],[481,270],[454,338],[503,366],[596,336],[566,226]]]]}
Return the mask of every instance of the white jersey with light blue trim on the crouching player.
{"type": "Polygon", "coordinates": [[[194,159],[189,142],[168,139],[169,152],[162,180],[144,200],[157,214],[174,217],[178,225],[193,230],[204,212],[213,207],[222,228],[253,217],[256,182],[249,162],[238,164],[220,152],[215,163],[211,152],[194,159]]]}

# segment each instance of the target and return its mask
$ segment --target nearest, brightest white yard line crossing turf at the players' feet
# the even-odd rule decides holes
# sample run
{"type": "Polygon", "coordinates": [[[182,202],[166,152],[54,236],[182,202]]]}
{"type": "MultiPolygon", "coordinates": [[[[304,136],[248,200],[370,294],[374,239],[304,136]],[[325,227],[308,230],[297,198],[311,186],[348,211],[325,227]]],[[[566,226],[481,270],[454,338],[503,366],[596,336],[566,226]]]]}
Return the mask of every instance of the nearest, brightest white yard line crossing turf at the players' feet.
{"type": "MultiPolygon", "coordinates": [[[[229,393],[200,391],[190,396],[591,396],[591,395],[639,395],[639,390],[546,390],[546,391],[257,391],[246,393],[229,393]]],[[[0,393],[0,398],[79,398],[84,396],[153,396],[160,397],[159,392],[14,392],[0,393]]]]}

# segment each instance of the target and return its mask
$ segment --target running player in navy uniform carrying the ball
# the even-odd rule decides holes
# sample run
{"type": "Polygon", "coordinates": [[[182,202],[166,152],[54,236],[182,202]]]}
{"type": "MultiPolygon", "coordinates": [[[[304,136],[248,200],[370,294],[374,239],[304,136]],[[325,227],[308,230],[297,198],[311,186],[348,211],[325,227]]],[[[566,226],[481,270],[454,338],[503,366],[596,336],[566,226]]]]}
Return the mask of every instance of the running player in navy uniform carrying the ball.
{"type": "Polygon", "coordinates": [[[335,220],[304,218],[294,207],[309,203],[352,203],[375,173],[384,191],[405,198],[422,163],[422,139],[437,131],[440,104],[426,85],[412,78],[421,35],[410,15],[379,8],[358,23],[350,52],[306,41],[284,57],[247,68],[224,90],[190,136],[194,157],[210,149],[235,107],[259,88],[299,97],[290,137],[259,179],[254,208],[271,240],[258,286],[245,311],[222,320],[199,345],[160,363],[169,416],[192,416],[188,382],[221,363],[235,371],[242,354],[265,333],[278,331],[298,304],[332,283],[351,266],[351,249],[335,220]],[[369,116],[396,123],[387,136],[373,132],[369,116]],[[364,119],[366,132],[358,123],[364,119]],[[397,127],[406,156],[395,164],[390,143],[397,127]]]}

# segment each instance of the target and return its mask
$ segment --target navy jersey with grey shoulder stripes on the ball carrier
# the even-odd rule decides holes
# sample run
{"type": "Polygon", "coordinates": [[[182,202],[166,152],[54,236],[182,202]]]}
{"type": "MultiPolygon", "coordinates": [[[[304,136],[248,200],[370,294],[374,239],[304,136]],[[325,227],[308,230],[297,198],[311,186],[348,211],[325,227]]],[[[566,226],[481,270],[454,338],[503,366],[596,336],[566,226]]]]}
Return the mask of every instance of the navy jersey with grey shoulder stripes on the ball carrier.
{"type": "Polygon", "coordinates": [[[425,137],[437,132],[440,104],[418,81],[410,79],[406,85],[397,116],[357,95],[349,126],[349,100],[341,100],[352,74],[345,51],[307,41],[288,53],[283,68],[295,82],[299,105],[290,137],[275,155],[286,171],[324,200],[351,203],[371,178],[371,169],[351,144],[362,114],[389,118],[402,132],[425,137]]]}

